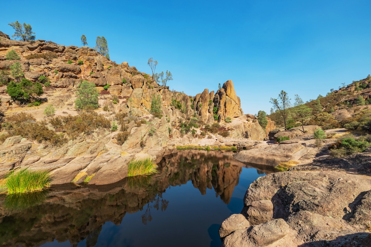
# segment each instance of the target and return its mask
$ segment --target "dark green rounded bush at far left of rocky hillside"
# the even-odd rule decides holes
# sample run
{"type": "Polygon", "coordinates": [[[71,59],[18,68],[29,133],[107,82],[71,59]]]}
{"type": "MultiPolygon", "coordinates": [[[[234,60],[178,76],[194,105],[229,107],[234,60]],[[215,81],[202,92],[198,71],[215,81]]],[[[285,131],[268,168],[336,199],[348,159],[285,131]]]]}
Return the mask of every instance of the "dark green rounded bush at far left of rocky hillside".
{"type": "Polygon", "coordinates": [[[34,101],[36,97],[44,93],[43,87],[39,82],[33,82],[25,78],[20,83],[11,81],[6,87],[6,92],[13,100],[22,103],[34,101]]]}

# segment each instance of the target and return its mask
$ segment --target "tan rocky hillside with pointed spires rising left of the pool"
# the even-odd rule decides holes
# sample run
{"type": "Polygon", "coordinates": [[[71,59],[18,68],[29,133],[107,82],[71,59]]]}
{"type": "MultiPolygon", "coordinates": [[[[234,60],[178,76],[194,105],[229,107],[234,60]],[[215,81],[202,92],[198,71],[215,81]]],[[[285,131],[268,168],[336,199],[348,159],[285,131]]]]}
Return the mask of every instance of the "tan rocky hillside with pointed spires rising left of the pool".
{"type": "MultiPolygon", "coordinates": [[[[254,116],[243,115],[230,80],[216,93],[205,89],[191,97],[170,91],[150,74],[127,62],[116,64],[89,47],[15,41],[2,33],[0,72],[8,74],[0,87],[5,123],[0,139],[8,138],[0,148],[0,178],[9,170],[30,167],[51,171],[53,183],[58,184],[80,183],[82,177],[88,177],[90,184],[114,183],[127,176],[132,158],[150,156],[158,163],[176,151],[174,145],[222,147],[228,138],[263,140],[269,132],[254,116]],[[19,60],[6,60],[12,50],[19,60]],[[24,78],[38,81],[45,76],[50,81],[50,87],[43,85],[39,106],[27,107],[6,93],[6,84],[14,79],[10,66],[17,62],[24,78]],[[85,80],[100,93],[99,108],[86,113],[75,109],[76,89],[85,80]],[[158,96],[161,113],[154,116],[151,105],[158,96]],[[47,117],[43,113],[49,105],[55,107],[55,114],[47,117]]],[[[270,122],[268,128],[274,124],[270,122]]]]}

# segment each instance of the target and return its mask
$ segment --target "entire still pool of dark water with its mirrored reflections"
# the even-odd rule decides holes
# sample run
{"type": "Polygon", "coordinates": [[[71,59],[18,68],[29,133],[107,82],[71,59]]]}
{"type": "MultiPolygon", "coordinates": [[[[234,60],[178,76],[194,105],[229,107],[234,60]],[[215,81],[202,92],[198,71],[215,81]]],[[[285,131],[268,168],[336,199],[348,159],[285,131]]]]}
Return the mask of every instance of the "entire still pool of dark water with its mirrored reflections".
{"type": "Polygon", "coordinates": [[[4,246],[219,247],[221,222],[240,213],[252,181],[272,172],[259,168],[229,152],[182,151],[150,178],[117,188],[52,188],[33,206],[8,207],[0,223],[0,236],[7,237],[0,240],[4,246]],[[24,221],[26,228],[4,229],[24,221]]]}

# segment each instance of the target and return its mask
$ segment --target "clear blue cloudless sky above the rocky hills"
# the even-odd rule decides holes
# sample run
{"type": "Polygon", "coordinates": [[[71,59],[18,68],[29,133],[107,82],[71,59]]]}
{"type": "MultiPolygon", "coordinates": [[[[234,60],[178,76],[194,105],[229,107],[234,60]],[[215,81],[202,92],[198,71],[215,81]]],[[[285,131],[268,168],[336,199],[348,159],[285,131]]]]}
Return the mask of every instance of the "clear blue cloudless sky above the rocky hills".
{"type": "MultiPolygon", "coordinates": [[[[36,39],[88,46],[108,41],[117,63],[169,70],[170,89],[188,95],[233,80],[244,113],[269,113],[280,90],[304,101],[367,77],[370,0],[29,1],[1,3],[0,30],[31,24],[36,39]],[[18,14],[15,14],[18,13],[18,14]]],[[[293,100],[292,100],[293,101],[293,100]]]]}

